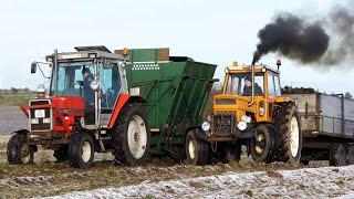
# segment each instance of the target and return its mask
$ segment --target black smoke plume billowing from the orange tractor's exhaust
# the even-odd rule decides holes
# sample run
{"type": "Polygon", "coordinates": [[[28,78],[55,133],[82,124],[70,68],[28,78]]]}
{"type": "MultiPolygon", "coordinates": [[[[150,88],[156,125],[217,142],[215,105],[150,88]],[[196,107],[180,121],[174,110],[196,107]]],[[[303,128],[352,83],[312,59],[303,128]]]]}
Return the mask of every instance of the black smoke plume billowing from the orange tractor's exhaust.
{"type": "Polygon", "coordinates": [[[346,8],[332,8],[330,13],[315,22],[293,13],[278,14],[258,32],[260,42],[252,64],[270,52],[277,52],[303,64],[336,65],[345,60],[353,60],[353,2],[347,1],[346,8]],[[332,39],[335,42],[331,42],[332,39]]]}

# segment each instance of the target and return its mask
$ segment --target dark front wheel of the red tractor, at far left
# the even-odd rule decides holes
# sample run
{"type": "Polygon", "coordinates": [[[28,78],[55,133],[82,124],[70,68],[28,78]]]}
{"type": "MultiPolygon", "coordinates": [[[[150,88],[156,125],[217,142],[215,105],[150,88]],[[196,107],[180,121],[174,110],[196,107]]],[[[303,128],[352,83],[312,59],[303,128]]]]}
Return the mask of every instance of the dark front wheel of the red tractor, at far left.
{"type": "Polygon", "coordinates": [[[7,155],[10,165],[33,163],[33,151],[27,143],[27,134],[17,133],[10,138],[7,155]]]}

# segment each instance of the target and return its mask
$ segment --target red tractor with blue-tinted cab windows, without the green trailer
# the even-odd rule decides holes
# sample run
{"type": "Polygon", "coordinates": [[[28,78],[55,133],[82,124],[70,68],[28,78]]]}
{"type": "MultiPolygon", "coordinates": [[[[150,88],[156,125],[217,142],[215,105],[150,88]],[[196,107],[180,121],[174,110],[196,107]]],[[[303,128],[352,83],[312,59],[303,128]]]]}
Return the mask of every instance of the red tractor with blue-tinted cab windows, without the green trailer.
{"type": "MultiPolygon", "coordinates": [[[[150,132],[139,108],[145,103],[139,88],[127,86],[127,51],[75,50],[46,56],[49,95],[21,106],[30,126],[10,138],[9,164],[33,161],[38,146],[54,150],[58,161],[69,160],[76,168],[91,167],[94,153],[113,153],[123,164],[144,164],[150,153],[150,132]]],[[[32,63],[31,73],[37,67],[41,70],[39,62],[32,63]]]]}

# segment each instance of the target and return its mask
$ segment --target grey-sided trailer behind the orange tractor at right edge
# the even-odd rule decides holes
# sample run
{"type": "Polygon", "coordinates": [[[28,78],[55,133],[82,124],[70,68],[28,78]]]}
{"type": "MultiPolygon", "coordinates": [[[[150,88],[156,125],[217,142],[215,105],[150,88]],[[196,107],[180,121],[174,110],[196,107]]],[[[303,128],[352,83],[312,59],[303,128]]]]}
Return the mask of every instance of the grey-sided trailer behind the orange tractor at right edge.
{"type": "Polygon", "coordinates": [[[287,96],[295,101],[300,114],[301,161],[329,160],[331,166],[353,165],[354,101],[342,94],[302,93],[301,90],[287,96]]]}

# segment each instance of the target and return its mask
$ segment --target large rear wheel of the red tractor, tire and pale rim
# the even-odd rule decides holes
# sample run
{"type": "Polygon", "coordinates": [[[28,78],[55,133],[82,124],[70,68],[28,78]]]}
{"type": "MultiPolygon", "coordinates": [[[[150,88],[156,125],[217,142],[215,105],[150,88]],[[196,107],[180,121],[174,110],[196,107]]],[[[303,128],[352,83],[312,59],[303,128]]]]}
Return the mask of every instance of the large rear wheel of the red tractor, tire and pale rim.
{"type": "Polygon", "coordinates": [[[112,134],[116,160],[128,165],[143,165],[150,154],[150,132],[145,114],[138,106],[127,106],[119,114],[112,134]]]}

